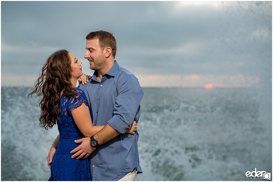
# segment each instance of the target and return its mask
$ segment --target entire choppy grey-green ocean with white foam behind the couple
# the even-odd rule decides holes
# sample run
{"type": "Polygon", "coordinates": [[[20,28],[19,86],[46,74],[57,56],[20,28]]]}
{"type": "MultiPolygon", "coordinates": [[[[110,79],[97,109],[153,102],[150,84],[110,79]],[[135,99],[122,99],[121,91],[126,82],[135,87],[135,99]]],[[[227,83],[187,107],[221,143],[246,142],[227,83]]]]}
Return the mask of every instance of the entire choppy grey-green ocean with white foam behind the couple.
{"type": "MultiPolygon", "coordinates": [[[[45,181],[57,126],[39,126],[32,87],[1,87],[1,180],[45,181]]],[[[272,173],[272,89],[143,88],[138,181],[255,181],[272,173]]]]}

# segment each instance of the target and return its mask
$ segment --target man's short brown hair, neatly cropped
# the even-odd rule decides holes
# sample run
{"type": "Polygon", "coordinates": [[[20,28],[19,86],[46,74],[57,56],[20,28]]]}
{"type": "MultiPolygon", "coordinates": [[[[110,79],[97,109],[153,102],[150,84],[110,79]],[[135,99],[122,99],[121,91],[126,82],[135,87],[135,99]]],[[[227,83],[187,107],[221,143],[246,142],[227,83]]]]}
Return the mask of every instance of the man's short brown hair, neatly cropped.
{"type": "Polygon", "coordinates": [[[96,32],[90,32],[88,35],[86,35],[86,40],[90,39],[99,39],[99,45],[100,49],[103,51],[106,47],[111,47],[112,49],[112,55],[115,59],[116,56],[116,39],[113,36],[112,33],[105,32],[105,31],[96,31],[96,32]]]}

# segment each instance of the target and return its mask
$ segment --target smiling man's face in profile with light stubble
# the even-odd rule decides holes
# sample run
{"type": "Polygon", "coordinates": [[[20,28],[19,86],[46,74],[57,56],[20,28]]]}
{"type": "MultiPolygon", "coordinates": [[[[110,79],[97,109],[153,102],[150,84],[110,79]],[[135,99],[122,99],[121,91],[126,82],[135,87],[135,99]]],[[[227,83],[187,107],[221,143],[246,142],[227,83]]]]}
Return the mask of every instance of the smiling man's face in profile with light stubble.
{"type": "Polygon", "coordinates": [[[86,52],[84,58],[89,61],[89,68],[100,71],[106,66],[106,59],[103,50],[100,49],[99,39],[86,40],[86,52]]]}

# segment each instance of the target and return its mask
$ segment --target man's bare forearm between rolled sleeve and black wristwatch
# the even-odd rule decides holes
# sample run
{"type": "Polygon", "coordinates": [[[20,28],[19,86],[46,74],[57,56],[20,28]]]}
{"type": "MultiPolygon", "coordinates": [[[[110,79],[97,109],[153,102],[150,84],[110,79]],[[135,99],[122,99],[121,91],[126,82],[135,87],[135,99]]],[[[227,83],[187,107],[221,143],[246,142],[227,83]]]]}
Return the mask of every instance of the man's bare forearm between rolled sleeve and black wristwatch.
{"type": "Polygon", "coordinates": [[[98,141],[98,144],[101,145],[106,143],[116,136],[120,135],[120,132],[115,130],[108,123],[101,129],[96,135],[94,135],[94,139],[98,141]]]}

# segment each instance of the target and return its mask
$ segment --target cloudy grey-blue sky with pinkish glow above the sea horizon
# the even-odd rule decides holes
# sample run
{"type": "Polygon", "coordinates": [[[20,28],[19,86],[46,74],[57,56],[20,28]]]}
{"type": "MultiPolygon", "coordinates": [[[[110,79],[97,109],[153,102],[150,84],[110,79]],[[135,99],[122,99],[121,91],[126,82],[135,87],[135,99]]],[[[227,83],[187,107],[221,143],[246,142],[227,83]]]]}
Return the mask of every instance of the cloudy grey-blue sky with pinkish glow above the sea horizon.
{"type": "Polygon", "coordinates": [[[117,40],[142,87],[272,87],[272,2],[1,1],[1,86],[34,86],[47,57],[83,62],[86,35],[117,40]]]}

